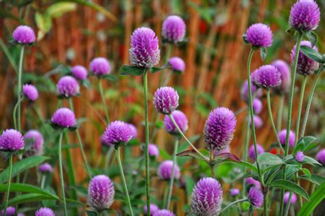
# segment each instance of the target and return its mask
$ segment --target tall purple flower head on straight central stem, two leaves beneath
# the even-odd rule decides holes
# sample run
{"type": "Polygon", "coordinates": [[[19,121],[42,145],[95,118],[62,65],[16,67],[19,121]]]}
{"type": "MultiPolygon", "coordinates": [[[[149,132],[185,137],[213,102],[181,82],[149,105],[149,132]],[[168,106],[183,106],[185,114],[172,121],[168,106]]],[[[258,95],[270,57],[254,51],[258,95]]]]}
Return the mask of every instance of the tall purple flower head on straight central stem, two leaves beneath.
{"type": "Polygon", "coordinates": [[[156,33],[147,27],[135,29],[129,49],[130,63],[139,68],[152,68],[159,63],[160,50],[156,33]]]}

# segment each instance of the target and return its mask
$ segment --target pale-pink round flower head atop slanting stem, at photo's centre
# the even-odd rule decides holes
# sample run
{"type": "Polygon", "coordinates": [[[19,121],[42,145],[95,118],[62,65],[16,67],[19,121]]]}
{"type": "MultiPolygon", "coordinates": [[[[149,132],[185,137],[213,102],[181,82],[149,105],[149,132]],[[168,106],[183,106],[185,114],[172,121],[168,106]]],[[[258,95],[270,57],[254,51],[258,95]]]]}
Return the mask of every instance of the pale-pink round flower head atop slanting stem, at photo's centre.
{"type": "Polygon", "coordinates": [[[160,87],[154,93],[154,107],[160,113],[169,115],[178,107],[179,96],[173,87],[160,87]]]}

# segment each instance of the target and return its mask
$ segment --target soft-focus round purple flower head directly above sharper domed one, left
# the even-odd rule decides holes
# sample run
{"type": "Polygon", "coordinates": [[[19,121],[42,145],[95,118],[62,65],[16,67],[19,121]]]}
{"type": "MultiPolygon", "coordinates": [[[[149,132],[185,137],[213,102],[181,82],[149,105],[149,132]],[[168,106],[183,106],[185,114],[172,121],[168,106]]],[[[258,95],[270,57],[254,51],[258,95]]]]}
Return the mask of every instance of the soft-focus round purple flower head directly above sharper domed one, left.
{"type": "Polygon", "coordinates": [[[75,78],[64,76],[59,79],[58,84],[56,84],[56,89],[61,96],[70,98],[79,94],[80,87],[75,78]]]}

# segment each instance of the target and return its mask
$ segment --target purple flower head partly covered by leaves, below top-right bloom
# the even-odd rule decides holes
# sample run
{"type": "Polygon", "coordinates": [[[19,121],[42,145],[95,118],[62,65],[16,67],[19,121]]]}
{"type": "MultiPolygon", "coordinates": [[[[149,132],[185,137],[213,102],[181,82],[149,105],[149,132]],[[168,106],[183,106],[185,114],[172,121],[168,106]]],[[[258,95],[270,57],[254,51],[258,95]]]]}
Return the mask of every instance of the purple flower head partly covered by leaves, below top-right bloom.
{"type": "MultiPolygon", "coordinates": [[[[301,42],[302,46],[309,46],[311,47],[311,42],[307,40],[302,40],[301,42]]],[[[291,50],[291,63],[293,64],[295,62],[295,57],[296,57],[296,48],[297,44],[293,46],[293,49],[291,50]]],[[[317,47],[314,46],[313,49],[315,51],[318,51],[317,47]]],[[[318,62],[315,62],[313,59],[310,59],[302,51],[299,51],[299,56],[298,56],[298,65],[297,65],[297,72],[300,75],[308,76],[312,75],[320,66],[318,62]]]]}

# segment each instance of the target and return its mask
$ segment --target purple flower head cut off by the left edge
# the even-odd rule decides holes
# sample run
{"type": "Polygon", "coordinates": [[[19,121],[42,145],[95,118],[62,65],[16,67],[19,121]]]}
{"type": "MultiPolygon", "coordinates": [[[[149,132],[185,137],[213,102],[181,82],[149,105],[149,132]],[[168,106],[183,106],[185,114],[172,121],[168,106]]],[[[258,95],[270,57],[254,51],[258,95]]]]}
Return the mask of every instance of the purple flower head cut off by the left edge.
{"type": "Polygon", "coordinates": [[[15,152],[25,147],[23,135],[14,129],[7,129],[0,136],[0,150],[15,152]]]}

